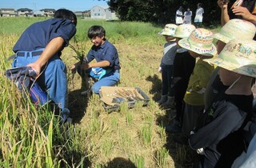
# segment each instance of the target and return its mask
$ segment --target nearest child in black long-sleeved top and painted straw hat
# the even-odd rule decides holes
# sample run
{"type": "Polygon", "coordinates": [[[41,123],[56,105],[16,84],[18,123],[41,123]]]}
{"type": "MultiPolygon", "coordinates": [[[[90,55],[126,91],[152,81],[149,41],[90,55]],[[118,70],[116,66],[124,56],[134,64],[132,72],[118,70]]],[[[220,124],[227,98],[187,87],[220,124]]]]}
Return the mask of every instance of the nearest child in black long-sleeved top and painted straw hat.
{"type": "Polygon", "coordinates": [[[245,150],[242,130],[252,115],[251,82],[256,77],[256,42],[233,39],[216,58],[222,91],[190,133],[190,147],[202,154],[198,167],[230,167],[245,150]]]}

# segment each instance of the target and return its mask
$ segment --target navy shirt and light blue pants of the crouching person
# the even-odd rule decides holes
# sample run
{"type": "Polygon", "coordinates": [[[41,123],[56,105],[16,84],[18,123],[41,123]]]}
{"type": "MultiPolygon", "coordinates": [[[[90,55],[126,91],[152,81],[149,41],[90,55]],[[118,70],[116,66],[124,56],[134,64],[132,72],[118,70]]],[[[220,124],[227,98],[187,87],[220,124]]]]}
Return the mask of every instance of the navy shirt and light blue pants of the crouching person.
{"type": "Polygon", "coordinates": [[[92,46],[86,58],[87,62],[91,62],[94,59],[97,62],[110,62],[110,66],[104,67],[107,73],[98,82],[95,82],[92,87],[95,94],[99,94],[101,86],[115,86],[118,83],[121,67],[118,50],[113,44],[106,40],[102,46],[92,46]]]}

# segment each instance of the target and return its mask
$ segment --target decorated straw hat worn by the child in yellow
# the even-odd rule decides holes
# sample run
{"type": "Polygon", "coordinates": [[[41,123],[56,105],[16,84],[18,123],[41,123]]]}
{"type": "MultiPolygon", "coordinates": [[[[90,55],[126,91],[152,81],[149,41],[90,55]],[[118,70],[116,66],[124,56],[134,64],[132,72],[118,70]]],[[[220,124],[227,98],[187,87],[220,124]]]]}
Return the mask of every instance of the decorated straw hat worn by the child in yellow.
{"type": "Polygon", "coordinates": [[[198,28],[192,31],[189,38],[180,40],[178,45],[198,54],[213,56],[217,54],[217,50],[213,44],[214,38],[211,37],[212,34],[210,30],[198,28]]]}

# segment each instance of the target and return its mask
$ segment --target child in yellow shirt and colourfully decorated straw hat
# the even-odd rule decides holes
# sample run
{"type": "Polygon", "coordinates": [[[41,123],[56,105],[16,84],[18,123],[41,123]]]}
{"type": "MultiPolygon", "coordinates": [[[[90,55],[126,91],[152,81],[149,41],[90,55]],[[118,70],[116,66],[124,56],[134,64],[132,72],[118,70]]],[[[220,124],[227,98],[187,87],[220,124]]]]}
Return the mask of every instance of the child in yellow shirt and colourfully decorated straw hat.
{"type": "Polygon", "coordinates": [[[176,139],[177,142],[187,144],[190,131],[194,129],[198,116],[204,109],[204,92],[214,66],[203,60],[212,58],[217,54],[216,47],[213,44],[214,38],[211,35],[210,30],[198,28],[190,34],[189,38],[178,42],[178,45],[188,50],[190,56],[196,58],[197,61],[184,96],[185,109],[182,121],[182,136],[180,139],[176,139]]]}

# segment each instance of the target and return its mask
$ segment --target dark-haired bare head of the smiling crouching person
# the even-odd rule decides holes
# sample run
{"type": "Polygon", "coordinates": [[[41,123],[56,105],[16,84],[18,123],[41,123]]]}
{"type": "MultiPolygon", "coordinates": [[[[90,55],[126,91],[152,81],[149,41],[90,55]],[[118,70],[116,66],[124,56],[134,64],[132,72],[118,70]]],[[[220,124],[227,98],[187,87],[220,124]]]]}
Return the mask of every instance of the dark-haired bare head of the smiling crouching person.
{"type": "Polygon", "coordinates": [[[106,30],[102,26],[91,26],[87,32],[87,36],[94,43],[94,46],[102,46],[106,41],[106,30]]]}

